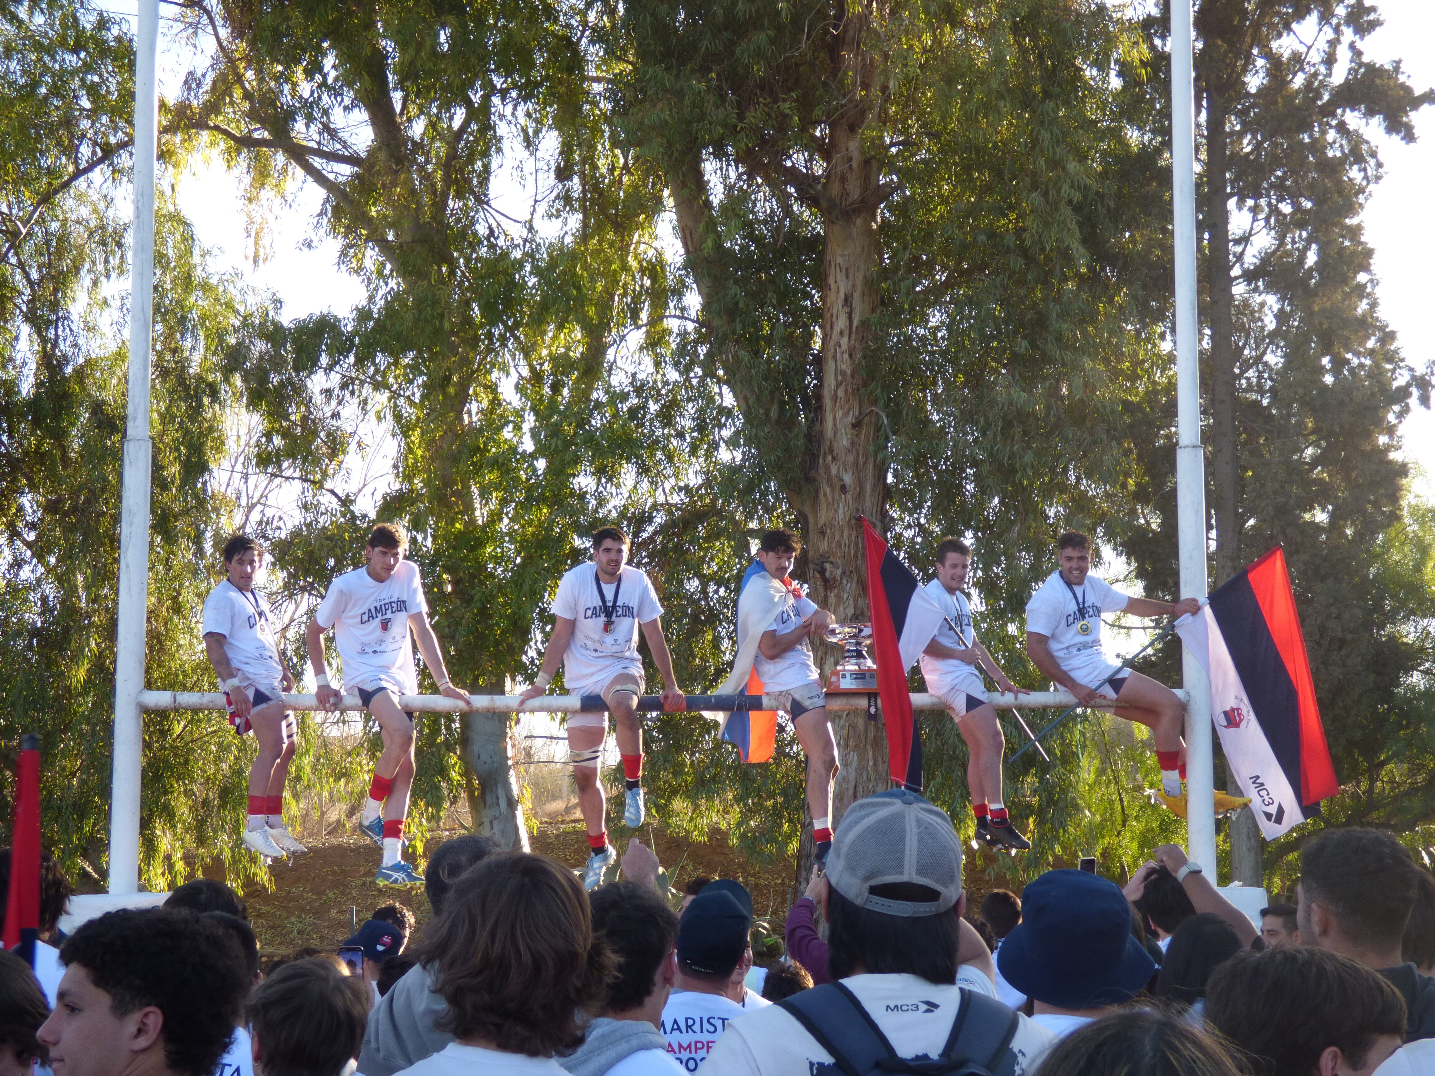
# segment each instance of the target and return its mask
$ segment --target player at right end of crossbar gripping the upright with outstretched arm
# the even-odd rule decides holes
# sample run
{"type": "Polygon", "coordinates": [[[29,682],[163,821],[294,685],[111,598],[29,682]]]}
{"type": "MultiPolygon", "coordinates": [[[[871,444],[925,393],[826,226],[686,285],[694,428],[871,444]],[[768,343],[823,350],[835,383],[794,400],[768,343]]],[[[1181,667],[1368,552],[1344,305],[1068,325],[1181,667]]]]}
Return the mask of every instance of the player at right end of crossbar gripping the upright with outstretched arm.
{"type": "MultiPolygon", "coordinates": [[[[1091,538],[1066,531],[1056,541],[1060,568],[1026,603],[1026,653],[1081,706],[1121,700],[1116,716],[1151,729],[1161,765],[1161,802],[1185,818],[1181,742],[1185,706],[1165,684],[1108,660],[1101,646],[1101,614],[1180,617],[1201,608],[1197,598],[1132,598],[1091,574],[1091,538]]],[[[1238,805],[1237,805],[1238,806],[1238,805]]],[[[1228,809],[1228,808],[1227,808],[1228,809]]]]}

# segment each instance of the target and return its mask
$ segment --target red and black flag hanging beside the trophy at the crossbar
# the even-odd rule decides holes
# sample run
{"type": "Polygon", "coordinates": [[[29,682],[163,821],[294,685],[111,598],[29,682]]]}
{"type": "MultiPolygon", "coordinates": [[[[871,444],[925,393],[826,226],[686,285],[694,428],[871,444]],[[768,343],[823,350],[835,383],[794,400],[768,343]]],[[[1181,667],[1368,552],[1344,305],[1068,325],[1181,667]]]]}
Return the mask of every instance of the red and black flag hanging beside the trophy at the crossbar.
{"type": "Polygon", "coordinates": [[[921,657],[946,617],[867,519],[862,519],[862,531],[867,607],[872,620],[877,690],[887,723],[888,768],[894,782],[921,792],[921,735],[913,719],[907,670],[921,657]]]}

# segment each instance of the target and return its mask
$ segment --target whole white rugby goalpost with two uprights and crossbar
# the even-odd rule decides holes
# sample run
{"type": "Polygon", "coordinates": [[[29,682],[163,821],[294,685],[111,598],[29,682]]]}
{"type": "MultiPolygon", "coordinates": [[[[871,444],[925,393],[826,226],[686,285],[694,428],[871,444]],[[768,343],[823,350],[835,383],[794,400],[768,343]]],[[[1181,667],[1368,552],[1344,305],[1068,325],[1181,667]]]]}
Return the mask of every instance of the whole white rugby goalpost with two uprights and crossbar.
{"type": "MultiPolygon", "coordinates": [[[[131,232],[129,380],[126,396],[123,471],[121,479],[118,624],[115,647],[115,737],[112,750],[109,821],[109,892],[139,891],[139,808],[146,710],[224,710],[220,693],[145,690],[145,627],[149,584],[149,364],[154,317],[155,149],[158,133],[156,57],[159,3],[138,0],[135,32],[135,139],[131,232]]],[[[1207,595],[1205,466],[1201,448],[1198,321],[1195,300],[1195,102],[1192,88],[1191,0],[1171,1],[1171,168],[1175,240],[1177,343],[1177,524],[1181,597],[1207,595]]],[[[1195,656],[1182,646],[1187,704],[1188,851],[1215,871],[1215,813],[1213,806],[1210,684],[1195,656]],[[1195,719],[1191,717],[1195,714],[1195,719]]],[[[650,697],[656,699],[656,696],[650,697]]],[[[778,709],[758,696],[689,696],[692,709],[778,709]],[[736,700],[743,700],[738,704],[736,700]]],[[[1022,696],[990,694],[1003,709],[1050,709],[1075,703],[1066,692],[1022,696]]],[[[317,710],[311,694],[286,694],[296,710],[317,710]]],[[[654,707],[651,702],[646,709],[654,707]]],[[[471,696],[468,704],[442,696],[405,696],[415,712],[573,713],[601,709],[601,700],[544,696],[522,706],[517,696],[471,696]]],[[[1101,706],[1101,703],[1098,703],[1101,706]]],[[[867,696],[831,694],[828,709],[867,710],[867,696]]],[[[944,709],[936,696],[913,694],[918,710],[944,709]]],[[[1106,709],[1111,703],[1106,703],[1106,709]]],[[[362,709],[346,696],[344,710],[362,709]]]]}

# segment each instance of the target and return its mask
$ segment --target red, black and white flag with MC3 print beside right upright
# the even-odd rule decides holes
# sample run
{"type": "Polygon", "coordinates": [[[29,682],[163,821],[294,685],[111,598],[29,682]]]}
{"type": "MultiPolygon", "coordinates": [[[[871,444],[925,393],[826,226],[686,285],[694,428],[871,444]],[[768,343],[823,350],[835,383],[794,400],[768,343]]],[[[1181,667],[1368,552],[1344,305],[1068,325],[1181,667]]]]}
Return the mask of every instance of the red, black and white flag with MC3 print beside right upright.
{"type": "Polygon", "coordinates": [[[1175,630],[1205,666],[1231,775],[1273,841],[1340,791],[1286,555],[1279,547],[1267,552],[1175,630]]]}

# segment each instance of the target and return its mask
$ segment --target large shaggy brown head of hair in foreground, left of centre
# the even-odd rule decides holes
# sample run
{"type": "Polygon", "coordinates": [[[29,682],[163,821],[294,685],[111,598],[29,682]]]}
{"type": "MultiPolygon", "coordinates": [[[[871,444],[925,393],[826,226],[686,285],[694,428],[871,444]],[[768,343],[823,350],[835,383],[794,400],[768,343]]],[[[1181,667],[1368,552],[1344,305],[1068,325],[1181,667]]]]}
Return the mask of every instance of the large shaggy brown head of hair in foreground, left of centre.
{"type": "Polygon", "coordinates": [[[588,895],[545,855],[491,855],[455,887],[416,954],[448,1003],[439,1030],[545,1057],[583,1042],[614,960],[593,937],[588,895]],[[514,990],[514,984],[522,990],[514,990]]]}

